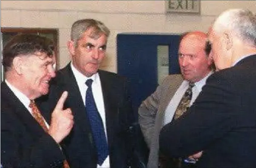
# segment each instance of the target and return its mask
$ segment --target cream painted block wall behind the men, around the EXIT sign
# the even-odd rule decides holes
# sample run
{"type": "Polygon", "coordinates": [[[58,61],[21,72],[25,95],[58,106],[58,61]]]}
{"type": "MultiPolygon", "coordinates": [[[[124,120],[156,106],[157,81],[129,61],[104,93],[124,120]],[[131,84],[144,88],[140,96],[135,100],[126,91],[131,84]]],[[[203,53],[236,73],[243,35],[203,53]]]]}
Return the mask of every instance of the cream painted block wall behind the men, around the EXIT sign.
{"type": "Polygon", "coordinates": [[[66,41],[78,19],[94,18],[111,30],[101,69],[116,72],[116,35],[124,32],[182,33],[207,31],[228,8],[256,11],[251,0],[201,0],[201,14],[166,14],[164,0],[1,0],[1,27],[58,28],[60,67],[69,62],[66,41]]]}

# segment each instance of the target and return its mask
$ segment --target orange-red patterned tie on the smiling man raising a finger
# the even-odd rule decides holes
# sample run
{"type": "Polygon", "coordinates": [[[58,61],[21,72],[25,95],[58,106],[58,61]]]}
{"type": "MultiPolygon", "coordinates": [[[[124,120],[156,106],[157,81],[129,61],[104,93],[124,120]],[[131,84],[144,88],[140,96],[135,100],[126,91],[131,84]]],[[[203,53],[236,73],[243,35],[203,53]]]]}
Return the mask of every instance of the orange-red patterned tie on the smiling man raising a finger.
{"type": "MultiPolygon", "coordinates": [[[[32,109],[32,115],[35,120],[39,123],[39,125],[43,128],[45,132],[48,132],[48,128],[46,126],[46,123],[44,122],[43,116],[37,108],[34,100],[30,100],[29,107],[32,109]]],[[[63,168],[69,168],[69,164],[66,160],[63,161],[63,168]]]]}

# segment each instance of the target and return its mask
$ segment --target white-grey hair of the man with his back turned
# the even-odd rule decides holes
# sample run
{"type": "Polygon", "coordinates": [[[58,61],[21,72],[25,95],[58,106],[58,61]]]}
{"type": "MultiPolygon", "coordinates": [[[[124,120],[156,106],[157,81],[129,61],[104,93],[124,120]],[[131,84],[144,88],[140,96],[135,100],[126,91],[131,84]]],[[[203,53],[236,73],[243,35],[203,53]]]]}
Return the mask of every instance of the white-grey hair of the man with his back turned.
{"type": "Polygon", "coordinates": [[[216,34],[231,31],[244,42],[256,45],[256,14],[244,9],[229,9],[219,15],[213,30],[216,34]]]}

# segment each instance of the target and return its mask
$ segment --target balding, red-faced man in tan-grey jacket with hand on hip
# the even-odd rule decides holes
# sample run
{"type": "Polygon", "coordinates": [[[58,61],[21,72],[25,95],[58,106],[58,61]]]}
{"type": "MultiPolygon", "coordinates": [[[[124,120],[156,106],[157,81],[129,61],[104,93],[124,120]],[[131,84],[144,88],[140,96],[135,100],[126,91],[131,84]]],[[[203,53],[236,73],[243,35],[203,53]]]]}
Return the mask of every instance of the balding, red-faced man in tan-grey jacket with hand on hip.
{"type": "Polygon", "coordinates": [[[205,51],[206,41],[207,35],[203,32],[194,31],[183,34],[178,51],[181,75],[167,76],[138,109],[141,130],[150,148],[148,168],[158,168],[158,164],[161,168],[181,166],[178,159],[161,155],[158,163],[158,135],[162,126],[182,115],[175,111],[189,88],[189,83],[192,82],[194,87],[188,106],[193,104],[206,79],[213,73],[212,60],[208,56],[209,52],[205,51]]]}

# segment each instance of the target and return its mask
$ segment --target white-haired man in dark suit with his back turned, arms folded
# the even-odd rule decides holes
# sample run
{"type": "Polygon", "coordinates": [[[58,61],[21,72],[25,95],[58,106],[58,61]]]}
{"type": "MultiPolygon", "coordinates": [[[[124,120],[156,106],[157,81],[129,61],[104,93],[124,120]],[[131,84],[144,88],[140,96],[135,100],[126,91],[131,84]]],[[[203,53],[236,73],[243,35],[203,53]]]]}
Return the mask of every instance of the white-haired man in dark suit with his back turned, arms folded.
{"type": "Polygon", "coordinates": [[[197,162],[201,168],[255,168],[256,14],[224,11],[209,39],[218,72],[207,79],[186,115],[163,127],[160,150],[171,157],[203,150],[197,162]]]}

